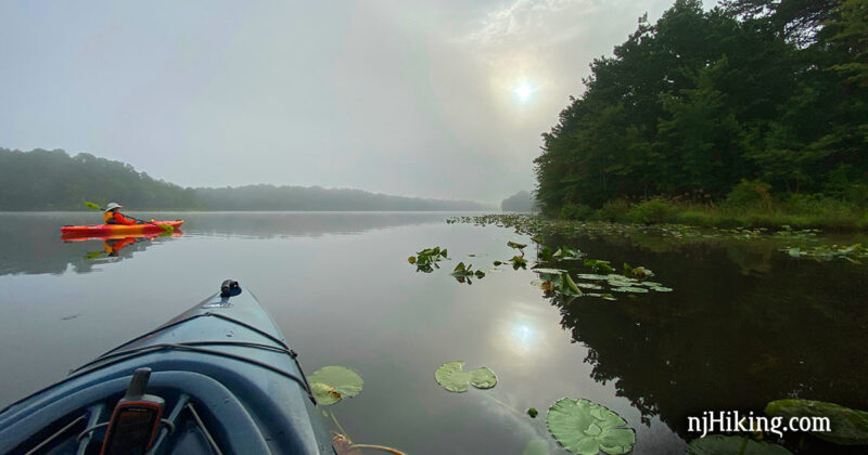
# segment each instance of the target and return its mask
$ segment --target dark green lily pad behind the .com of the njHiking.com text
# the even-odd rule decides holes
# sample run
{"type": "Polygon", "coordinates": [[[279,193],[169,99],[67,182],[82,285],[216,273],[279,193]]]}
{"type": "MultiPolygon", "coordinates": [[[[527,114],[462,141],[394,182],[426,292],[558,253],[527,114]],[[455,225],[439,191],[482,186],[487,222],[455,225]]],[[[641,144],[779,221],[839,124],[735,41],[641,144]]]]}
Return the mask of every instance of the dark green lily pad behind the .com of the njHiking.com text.
{"type": "Polygon", "coordinates": [[[841,445],[868,444],[868,412],[851,410],[834,403],[814,400],[777,400],[766,405],[766,414],[783,417],[828,417],[831,431],[810,432],[815,437],[841,445]]]}

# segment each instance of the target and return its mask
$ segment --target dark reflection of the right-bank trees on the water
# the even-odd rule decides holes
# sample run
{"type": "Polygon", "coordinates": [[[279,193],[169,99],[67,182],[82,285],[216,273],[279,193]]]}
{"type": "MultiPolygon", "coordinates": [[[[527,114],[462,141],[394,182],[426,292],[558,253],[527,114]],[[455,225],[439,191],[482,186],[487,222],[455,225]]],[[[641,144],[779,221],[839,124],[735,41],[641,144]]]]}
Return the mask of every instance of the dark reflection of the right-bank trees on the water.
{"type": "MultiPolygon", "coordinates": [[[[615,302],[549,296],[598,382],[614,382],[642,421],[659,417],[684,439],[703,411],[763,414],[782,398],[868,407],[866,271],[794,261],[751,244],[650,252],[635,244],[559,238],[589,257],[650,268],[671,294],[615,302]],[[769,276],[774,274],[774,276],[769,276]]],[[[578,272],[580,265],[573,265],[578,272]]]]}

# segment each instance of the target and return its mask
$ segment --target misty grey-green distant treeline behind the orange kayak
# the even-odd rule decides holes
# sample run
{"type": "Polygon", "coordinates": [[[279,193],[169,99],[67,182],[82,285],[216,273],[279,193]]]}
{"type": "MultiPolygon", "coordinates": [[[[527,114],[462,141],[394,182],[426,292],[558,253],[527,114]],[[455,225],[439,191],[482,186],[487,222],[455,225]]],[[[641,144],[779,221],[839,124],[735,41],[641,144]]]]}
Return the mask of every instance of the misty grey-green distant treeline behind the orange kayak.
{"type": "Polygon", "coordinates": [[[184,188],[120,161],[62,150],[0,148],[0,210],[82,210],[84,202],[136,210],[483,210],[467,200],[423,199],[319,186],[184,188]]]}

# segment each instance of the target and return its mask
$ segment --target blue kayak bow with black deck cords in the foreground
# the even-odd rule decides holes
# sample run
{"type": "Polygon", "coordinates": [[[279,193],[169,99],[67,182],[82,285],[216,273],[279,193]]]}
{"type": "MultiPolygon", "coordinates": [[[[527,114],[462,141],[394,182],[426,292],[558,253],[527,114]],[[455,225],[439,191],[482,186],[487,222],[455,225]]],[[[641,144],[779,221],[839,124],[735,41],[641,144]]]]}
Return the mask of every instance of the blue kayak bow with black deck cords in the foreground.
{"type": "Polygon", "coordinates": [[[101,451],[335,453],[295,352],[250,290],[231,281],[153,332],[0,411],[0,454],[101,451]],[[135,395],[136,387],[144,394],[135,395]],[[137,438],[144,445],[129,442],[137,438]],[[104,447],[104,440],[116,447],[104,447]]]}

